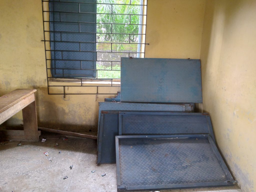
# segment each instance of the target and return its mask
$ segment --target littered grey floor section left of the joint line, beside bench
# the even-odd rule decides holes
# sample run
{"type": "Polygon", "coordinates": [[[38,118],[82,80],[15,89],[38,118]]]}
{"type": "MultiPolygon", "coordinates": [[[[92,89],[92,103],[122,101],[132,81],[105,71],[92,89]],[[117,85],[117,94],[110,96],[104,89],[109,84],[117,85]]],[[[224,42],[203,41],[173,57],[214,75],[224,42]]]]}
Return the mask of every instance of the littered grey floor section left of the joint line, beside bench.
{"type": "Polygon", "coordinates": [[[69,166],[75,166],[83,140],[71,138],[63,141],[61,138],[46,142],[21,142],[24,146],[17,146],[18,143],[8,142],[0,146],[0,191],[68,190],[70,181],[63,180],[63,177],[72,176],[73,170],[69,166]],[[59,146],[54,147],[56,142],[59,146]],[[48,152],[49,156],[44,152],[48,152]]]}

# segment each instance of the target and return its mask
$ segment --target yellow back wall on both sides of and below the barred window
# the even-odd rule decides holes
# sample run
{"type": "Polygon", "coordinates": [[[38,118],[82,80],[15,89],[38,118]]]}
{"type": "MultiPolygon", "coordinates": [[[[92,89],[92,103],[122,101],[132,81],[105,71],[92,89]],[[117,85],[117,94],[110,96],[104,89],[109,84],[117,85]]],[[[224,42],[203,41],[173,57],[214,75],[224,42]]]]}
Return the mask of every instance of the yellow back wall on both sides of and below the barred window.
{"type": "MultiPolygon", "coordinates": [[[[146,57],[199,58],[204,2],[148,1],[146,57]]],[[[106,95],[48,95],[43,38],[40,0],[0,1],[0,95],[35,88],[39,126],[96,131],[106,95]]],[[[20,123],[22,113],[6,122],[20,123]]]]}

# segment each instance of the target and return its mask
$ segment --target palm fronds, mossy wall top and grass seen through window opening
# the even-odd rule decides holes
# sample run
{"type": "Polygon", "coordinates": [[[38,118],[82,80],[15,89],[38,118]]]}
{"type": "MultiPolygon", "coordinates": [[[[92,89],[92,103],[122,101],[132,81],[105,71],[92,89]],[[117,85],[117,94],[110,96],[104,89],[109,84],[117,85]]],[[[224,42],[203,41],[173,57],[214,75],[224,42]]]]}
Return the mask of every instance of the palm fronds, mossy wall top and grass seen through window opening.
{"type": "MultiPolygon", "coordinates": [[[[141,0],[132,0],[132,5],[109,5],[109,4],[130,4],[130,0],[97,0],[97,41],[103,42],[97,44],[97,51],[109,51],[111,50],[111,44],[104,44],[104,42],[120,42],[118,44],[112,44],[112,50],[115,52],[136,52],[137,44],[122,44],[122,42],[138,42],[139,15],[125,15],[125,14],[140,14],[141,6],[134,6],[135,4],[140,5],[141,0]],[[109,14],[113,13],[113,14],[109,14]],[[121,14],[121,15],[115,15],[121,14]],[[124,14],[124,15],[122,15],[124,14]],[[112,24],[108,24],[112,23],[112,24]],[[121,34],[102,34],[102,33],[121,33],[121,34]],[[127,34],[135,34],[129,35],[127,34]]],[[[118,55],[111,53],[112,56],[118,55]]],[[[101,53],[99,54],[99,57],[101,53]]],[[[109,64],[104,62],[97,62],[97,69],[111,70],[109,64]]],[[[120,70],[119,65],[112,66],[112,70],[120,70]]],[[[98,71],[98,78],[120,78],[120,71],[98,71]]]]}

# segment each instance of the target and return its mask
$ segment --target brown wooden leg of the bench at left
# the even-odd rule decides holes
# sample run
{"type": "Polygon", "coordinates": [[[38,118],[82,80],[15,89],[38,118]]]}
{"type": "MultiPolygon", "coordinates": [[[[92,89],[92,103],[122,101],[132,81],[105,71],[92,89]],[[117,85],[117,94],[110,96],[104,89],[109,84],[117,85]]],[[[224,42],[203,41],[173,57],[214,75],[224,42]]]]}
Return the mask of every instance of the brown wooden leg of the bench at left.
{"type": "Polygon", "coordinates": [[[25,141],[39,141],[37,131],[36,101],[22,110],[25,141]]]}

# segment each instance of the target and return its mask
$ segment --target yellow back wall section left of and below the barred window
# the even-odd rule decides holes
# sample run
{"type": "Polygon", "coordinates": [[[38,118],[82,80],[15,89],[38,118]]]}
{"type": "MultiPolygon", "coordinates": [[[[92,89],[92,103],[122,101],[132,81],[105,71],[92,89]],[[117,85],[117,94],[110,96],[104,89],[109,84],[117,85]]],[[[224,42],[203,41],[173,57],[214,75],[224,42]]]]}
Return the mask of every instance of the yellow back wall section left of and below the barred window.
{"type": "MultiPolygon", "coordinates": [[[[98,101],[105,95],[48,95],[40,0],[0,1],[0,95],[35,88],[38,125],[61,130],[96,130],[98,101]]],[[[18,113],[6,124],[22,123],[18,113]]]]}

